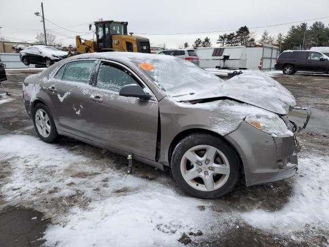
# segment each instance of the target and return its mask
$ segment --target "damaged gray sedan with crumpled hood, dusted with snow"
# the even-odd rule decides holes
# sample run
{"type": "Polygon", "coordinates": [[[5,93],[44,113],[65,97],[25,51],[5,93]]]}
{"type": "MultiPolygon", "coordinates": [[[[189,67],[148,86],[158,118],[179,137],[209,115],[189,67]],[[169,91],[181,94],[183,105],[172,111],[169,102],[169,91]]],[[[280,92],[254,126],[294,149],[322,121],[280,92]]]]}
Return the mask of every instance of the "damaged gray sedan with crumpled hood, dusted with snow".
{"type": "Polygon", "coordinates": [[[286,116],[295,99],[262,72],[223,81],[171,56],[103,52],[27,77],[23,96],[45,142],[65,135],[127,155],[130,165],[170,167],[197,197],[221,197],[240,178],[269,183],[298,169],[298,127],[286,116]]]}

